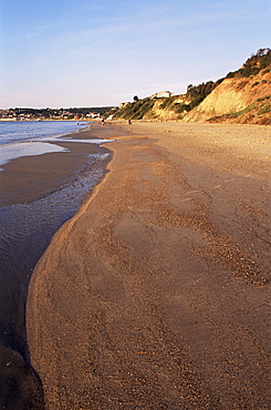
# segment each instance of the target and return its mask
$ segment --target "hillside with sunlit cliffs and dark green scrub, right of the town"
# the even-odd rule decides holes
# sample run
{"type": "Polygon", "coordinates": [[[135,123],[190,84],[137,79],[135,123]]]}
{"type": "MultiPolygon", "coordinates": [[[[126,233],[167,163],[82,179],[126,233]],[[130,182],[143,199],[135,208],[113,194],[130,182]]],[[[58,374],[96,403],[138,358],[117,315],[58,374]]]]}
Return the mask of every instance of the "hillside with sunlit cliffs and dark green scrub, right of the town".
{"type": "Polygon", "coordinates": [[[135,99],[110,114],[125,120],[271,124],[271,50],[260,49],[217,82],[190,84],[186,94],[135,99]]]}

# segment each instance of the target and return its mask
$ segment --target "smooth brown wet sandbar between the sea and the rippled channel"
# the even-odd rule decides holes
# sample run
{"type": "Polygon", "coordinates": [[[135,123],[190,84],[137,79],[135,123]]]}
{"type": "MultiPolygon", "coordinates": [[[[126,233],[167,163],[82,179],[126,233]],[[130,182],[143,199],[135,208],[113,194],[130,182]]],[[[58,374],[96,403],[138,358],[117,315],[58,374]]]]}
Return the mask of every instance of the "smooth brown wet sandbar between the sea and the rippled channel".
{"type": "MultiPolygon", "coordinates": [[[[101,130],[102,139],[103,135],[104,133],[101,130]]],[[[108,137],[114,139],[114,130],[108,133],[108,137]]],[[[72,136],[74,140],[95,139],[95,125],[92,126],[91,131],[81,131],[67,136],[72,136]]],[[[0,172],[0,206],[35,201],[59,189],[60,186],[70,182],[73,175],[85,168],[90,154],[100,152],[97,145],[61,142],[65,136],[58,139],[58,145],[67,148],[69,152],[24,156],[1,165],[4,171],[0,172]]],[[[56,144],[54,141],[50,142],[56,144]]]]}

